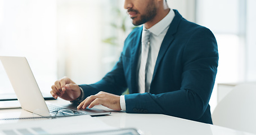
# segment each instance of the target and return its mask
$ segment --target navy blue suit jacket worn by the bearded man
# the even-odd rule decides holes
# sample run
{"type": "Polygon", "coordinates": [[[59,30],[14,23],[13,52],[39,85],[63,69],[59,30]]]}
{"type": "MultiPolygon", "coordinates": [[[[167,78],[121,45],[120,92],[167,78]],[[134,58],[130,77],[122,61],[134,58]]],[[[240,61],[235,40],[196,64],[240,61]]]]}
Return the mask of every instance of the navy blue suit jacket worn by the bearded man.
{"type": "Polygon", "coordinates": [[[217,74],[217,42],[209,29],[174,12],[156,60],[150,93],[138,93],[140,27],[128,35],[113,70],[95,84],[80,85],[85,96],[100,91],[121,95],[128,88],[127,113],[166,114],[212,124],[209,100],[217,74]]]}

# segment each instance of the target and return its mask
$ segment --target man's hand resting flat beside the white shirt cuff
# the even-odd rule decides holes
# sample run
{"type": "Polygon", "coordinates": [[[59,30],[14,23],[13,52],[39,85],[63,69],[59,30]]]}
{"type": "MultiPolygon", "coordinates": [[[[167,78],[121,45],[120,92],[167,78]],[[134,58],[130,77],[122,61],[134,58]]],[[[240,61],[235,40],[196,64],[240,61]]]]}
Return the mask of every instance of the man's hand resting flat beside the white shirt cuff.
{"type": "Polygon", "coordinates": [[[116,111],[122,110],[120,106],[120,96],[106,92],[98,92],[96,95],[87,97],[77,108],[86,109],[88,106],[88,108],[91,109],[95,105],[103,105],[116,111]]]}

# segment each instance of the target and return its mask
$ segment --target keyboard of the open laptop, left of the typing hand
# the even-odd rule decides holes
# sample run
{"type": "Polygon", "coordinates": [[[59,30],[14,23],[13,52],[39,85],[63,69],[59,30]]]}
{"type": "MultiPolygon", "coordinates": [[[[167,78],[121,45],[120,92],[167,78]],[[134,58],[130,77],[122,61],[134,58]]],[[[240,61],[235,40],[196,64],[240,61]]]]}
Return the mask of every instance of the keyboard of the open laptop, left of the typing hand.
{"type": "Polygon", "coordinates": [[[61,107],[57,105],[48,104],[47,106],[52,116],[68,116],[68,115],[84,114],[79,111],[67,109],[65,107],[61,107]]]}

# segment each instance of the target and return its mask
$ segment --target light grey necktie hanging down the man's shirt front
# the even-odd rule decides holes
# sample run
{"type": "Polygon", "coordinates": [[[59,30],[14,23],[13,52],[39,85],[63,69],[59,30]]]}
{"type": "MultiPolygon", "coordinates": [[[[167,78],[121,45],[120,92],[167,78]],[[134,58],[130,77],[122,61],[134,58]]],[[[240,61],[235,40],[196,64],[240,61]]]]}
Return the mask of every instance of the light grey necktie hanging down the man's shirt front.
{"type": "Polygon", "coordinates": [[[141,47],[141,64],[139,70],[139,91],[140,93],[149,92],[149,86],[146,85],[146,72],[148,67],[148,59],[150,53],[150,38],[151,33],[149,30],[145,30],[142,35],[142,47],[141,47]]]}

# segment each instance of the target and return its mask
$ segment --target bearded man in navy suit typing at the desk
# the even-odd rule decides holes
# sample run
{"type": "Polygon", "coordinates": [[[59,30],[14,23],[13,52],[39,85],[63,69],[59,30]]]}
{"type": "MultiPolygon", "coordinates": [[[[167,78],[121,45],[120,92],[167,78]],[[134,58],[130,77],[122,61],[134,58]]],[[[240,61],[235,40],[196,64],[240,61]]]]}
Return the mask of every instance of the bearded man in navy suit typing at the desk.
{"type": "Polygon", "coordinates": [[[78,102],[78,108],[100,104],[212,124],[209,100],[218,67],[213,33],[170,10],[165,0],[125,0],[124,8],[134,25],[143,26],[125,39],[113,70],[95,84],[57,80],[52,96],[78,102]],[[122,95],[127,88],[129,95],[122,95]]]}

